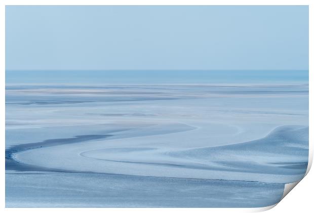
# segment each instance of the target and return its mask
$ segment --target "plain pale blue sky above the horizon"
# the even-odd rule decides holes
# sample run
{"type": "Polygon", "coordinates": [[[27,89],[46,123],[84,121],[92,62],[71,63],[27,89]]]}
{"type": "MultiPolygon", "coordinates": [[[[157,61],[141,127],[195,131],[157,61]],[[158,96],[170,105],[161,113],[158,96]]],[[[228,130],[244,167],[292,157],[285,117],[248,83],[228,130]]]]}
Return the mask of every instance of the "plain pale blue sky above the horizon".
{"type": "Polygon", "coordinates": [[[307,6],[6,6],[6,70],[307,70],[307,6]]]}

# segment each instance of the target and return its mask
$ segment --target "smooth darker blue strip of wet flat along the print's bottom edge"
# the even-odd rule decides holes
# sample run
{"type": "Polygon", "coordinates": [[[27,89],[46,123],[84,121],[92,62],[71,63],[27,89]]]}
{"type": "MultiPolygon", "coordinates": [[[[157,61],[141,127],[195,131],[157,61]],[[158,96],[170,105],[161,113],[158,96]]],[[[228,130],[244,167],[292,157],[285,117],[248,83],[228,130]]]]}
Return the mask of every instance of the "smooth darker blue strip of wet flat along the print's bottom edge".
{"type": "Polygon", "coordinates": [[[262,207],[284,184],[115,174],[6,174],[7,207],[262,207]]]}

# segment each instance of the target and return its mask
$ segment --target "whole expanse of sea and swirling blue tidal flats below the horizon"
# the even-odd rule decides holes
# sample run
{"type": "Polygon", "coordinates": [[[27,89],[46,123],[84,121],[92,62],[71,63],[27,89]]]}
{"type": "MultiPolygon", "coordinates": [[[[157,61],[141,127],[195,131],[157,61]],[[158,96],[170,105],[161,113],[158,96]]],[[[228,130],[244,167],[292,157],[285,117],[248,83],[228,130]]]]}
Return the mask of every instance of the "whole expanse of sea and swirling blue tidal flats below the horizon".
{"type": "Polygon", "coordinates": [[[262,207],[306,171],[307,72],[7,73],[7,207],[262,207]]]}

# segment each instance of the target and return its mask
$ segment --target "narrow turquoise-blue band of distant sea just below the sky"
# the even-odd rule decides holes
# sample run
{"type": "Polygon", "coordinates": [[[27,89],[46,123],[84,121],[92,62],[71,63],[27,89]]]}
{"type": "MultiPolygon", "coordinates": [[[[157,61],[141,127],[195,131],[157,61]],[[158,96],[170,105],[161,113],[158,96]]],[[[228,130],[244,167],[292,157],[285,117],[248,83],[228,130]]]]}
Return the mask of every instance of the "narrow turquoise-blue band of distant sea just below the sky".
{"type": "Polygon", "coordinates": [[[6,84],[286,84],[308,70],[7,70],[6,84]]]}

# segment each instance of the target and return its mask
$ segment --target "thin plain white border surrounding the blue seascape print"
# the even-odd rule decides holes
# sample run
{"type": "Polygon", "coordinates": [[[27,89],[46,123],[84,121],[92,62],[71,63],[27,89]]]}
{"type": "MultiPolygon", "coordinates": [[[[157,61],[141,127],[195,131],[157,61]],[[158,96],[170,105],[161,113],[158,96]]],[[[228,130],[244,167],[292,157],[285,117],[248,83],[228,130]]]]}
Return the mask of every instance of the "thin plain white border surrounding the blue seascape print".
{"type": "MultiPolygon", "coordinates": [[[[1,98],[1,138],[2,138],[2,157],[1,161],[1,169],[3,175],[1,176],[2,180],[2,191],[1,191],[1,206],[5,207],[5,6],[6,5],[308,5],[309,6],[309,58],[314,58],[313,52],[313,12],[314,12],[314,3],[311,0],[3,0],[1,4],[1,12],[0,12],[0,24],[1,34],[0,34],[0,49],[1,49],[1,57],[0,57],[0,66],[2,67],[2,71],[0,73],[0,81],[2,84],[2,92],[0,95],[1,98]]],[[[313,85],[311,84],[311,79],[314,77],[313,70],[313,61],[309,60],[309,91],[313,90],[313,85]]],[[[309,109],[313,109],[313,98],[311,92],[309,93],[309,109]]],[[[313,144],[312,138],[313,131],[311,121],[313,121],[312,111],[309,111],[309,165],[307,168],[308,173],[313,159],[313,144]]],[[[290,186],[290,185],[289,185],[290,186]]],[[[289,186],[285,187],[285,189],[289,188],[289,186]]],[[[286,191],[286,190],[285,190],[286,191]]],[[[273,205],[275,206],[275,205],[273,205]]],[[[55,212],[55,211],[75,211],[75,212],[86,212],[86,211],[109,211],[109,212],[119,212],[119,211],[129,211],[129,212],[160,212],[161,210],[164,212],[173,212],[173,211],[197,211],[197,212],[257,212],[263,211],[272,208],[273,206],[263,207],[263,208],[6,208],[5,211],[8,212],[17,212],[17,211],[28,211],[28,212],[55,212]]],[[[287,209],[286,209],[287,210],[287,209]]]]}

